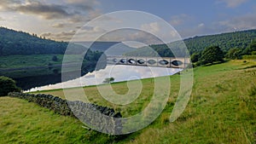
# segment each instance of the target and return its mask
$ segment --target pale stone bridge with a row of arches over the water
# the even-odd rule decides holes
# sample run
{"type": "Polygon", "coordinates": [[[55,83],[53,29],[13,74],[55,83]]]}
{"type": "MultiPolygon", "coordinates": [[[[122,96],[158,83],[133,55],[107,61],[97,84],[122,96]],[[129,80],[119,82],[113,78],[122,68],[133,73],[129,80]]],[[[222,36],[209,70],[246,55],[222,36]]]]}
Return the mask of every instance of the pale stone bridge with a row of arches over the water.
{"type": "Polygon", "coordinates": [[[185,68],[189,65],[189,58],[172,57],[131,57],[131,56],[108,56],[109,65],[130,65],[130,66],[158,66],[185,68]]]}

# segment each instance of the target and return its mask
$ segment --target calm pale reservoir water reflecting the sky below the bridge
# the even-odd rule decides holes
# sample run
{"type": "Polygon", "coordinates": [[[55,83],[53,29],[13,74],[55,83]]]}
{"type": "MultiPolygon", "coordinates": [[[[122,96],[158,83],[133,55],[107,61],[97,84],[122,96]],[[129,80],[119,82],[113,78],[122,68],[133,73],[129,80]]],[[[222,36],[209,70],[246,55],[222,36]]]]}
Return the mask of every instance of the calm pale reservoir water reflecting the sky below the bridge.
{"type": "Polygon", "coordinates": [[[114,82],[122,82],[127,80],[135,80],[135,79],[143,79],[143,78],[155,78],[155,77],[173,75],[180,71],[182,71],[182,69],[149,67],[149,66],[109,65],[109,66],[106,66],[106,68],[103,70],[87,73],[81,78],[73,79],[63,83],[49,84],[42,87],[29,89],[29,90],[26,90],[26,92],[97,85],[97,84],[102,84],[105,78],[114,78],[114,82]]]}

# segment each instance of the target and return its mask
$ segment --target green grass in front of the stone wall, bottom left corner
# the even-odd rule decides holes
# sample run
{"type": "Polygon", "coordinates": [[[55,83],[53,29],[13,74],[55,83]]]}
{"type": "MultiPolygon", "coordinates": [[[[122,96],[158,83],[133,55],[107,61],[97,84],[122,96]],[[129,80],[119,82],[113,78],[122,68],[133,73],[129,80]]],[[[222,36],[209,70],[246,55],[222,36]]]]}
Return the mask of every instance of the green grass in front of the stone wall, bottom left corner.
{"type": "Polygon", "coordinates": [[[17,98],[0,98],[0,143],[109,143],[114,136],[83,128],[77,118],[17,98]]]}

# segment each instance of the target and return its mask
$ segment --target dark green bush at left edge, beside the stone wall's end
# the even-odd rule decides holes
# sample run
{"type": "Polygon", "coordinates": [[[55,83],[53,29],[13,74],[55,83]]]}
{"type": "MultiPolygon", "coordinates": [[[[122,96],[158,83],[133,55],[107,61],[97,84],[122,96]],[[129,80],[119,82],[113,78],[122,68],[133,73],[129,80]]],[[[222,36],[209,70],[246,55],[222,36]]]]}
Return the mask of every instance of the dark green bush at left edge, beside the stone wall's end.
{"type": "Polygon", "coordinates": [[[6,96],[9,92],[19,92],[20,88],[18,88],[15,84],[15,81],[11,78],[0,77],[0,96],[6,96]]]}

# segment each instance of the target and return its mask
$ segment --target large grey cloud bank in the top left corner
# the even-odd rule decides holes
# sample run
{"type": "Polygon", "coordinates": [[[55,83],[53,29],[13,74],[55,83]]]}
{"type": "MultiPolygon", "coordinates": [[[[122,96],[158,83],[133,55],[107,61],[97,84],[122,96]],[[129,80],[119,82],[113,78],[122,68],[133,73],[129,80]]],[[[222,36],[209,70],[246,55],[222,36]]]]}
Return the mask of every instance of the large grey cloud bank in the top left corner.
{"type": "Polygon", "coordinates": [[[26,0],[0,0],[0,10],[32,14],[45,20],[69,20],[73,23],[84,22],[95,18],[100,14],[94,9],[97,1],[67,0],[66,3],[44,3],[26,0]]]}

